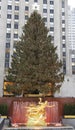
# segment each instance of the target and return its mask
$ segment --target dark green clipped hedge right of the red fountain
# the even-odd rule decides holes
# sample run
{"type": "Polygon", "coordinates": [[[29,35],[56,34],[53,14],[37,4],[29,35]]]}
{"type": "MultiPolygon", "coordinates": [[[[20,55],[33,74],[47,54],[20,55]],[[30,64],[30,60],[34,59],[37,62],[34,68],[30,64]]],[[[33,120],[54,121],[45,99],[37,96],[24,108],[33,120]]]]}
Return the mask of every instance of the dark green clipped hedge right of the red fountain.
{"type": "Polygon", "coordinates": [[[64,105],[64,115],[75,115],[75,104],[64,105]]]}

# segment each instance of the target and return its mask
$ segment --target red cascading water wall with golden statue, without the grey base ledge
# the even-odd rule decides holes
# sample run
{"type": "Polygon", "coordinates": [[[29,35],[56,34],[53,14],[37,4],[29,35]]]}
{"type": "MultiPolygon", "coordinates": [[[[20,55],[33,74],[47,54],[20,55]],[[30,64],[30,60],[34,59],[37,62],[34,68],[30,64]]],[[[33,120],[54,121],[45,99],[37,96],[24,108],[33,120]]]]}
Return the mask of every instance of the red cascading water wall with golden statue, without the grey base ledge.
{"type": "Polygon", "coordinates": [[[12,125],[48,126],[59,122],[58,102],[13,102],[12,125]]]}

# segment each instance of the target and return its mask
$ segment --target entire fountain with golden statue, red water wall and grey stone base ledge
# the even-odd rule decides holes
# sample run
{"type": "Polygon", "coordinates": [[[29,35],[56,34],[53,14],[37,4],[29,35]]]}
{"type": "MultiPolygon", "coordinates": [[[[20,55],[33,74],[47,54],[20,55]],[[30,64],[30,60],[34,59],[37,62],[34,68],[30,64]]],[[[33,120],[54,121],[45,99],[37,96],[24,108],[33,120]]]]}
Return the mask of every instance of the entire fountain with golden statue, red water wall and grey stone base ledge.
{"type": "Polygon", "coordinates": [[[59,123],[58,102],[40,101],[23,102],[14,101],[12,107],[12,127],[5,130],[72,130],[59,123]]]}

